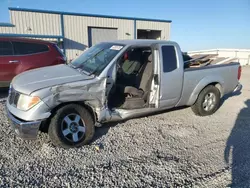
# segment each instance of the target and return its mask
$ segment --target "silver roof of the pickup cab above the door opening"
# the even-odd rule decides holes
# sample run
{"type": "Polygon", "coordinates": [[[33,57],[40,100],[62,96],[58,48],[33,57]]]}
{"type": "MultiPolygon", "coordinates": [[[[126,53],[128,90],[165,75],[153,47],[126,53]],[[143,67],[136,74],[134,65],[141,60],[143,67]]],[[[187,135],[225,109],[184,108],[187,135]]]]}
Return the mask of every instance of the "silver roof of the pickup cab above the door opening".
{"type": "Polygon", "coordinates": [[[137,45],[137,44],[145,44],[145,45],[150,45],[150,44],[171,44],[171,45],[177,45],[177,43],[174,42],[174,41],[153,40],[153,39],[113,40],[113,41],[109,41],[109,42],[119,43],[119,44],[123,44],[123,45],[137,45]]]}

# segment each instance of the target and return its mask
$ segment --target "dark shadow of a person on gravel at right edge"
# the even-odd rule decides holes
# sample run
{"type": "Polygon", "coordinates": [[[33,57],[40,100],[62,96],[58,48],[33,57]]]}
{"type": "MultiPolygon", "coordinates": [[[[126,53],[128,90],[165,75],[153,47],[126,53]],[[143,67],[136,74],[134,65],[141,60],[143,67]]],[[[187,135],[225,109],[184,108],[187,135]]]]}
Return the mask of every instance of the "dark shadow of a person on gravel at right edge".
{"type": "Polygon", "coordinates": [[[230,187],[249,187],[250,182],[250,99],[245,101],[247,107],[241,109],[235,125],[228,137],[224,159],[229,165],[232,150],[232,184],[230,187]]]}

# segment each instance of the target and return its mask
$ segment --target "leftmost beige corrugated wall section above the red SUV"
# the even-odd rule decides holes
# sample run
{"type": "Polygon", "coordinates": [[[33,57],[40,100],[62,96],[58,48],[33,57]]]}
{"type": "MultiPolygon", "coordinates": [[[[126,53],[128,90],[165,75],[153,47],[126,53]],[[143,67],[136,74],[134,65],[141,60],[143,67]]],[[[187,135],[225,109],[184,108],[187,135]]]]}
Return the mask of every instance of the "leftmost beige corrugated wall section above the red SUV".
{"type": "Polygon", "coordinates": [[[10,16],[15,27],[0,27],[0,33],[61,35],[59,14],[10,11],[10,16]]]}

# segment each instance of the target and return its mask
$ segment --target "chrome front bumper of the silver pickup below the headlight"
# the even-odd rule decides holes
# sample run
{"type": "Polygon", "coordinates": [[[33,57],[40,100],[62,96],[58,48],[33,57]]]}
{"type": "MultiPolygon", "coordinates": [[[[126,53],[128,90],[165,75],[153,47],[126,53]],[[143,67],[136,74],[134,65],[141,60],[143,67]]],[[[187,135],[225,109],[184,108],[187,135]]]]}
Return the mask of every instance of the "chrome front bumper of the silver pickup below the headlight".
{"type": "Polygon", "coordinates": [[[14,117],[8,109],[6,109],[7,116],[11,123],[12,129],[22,139],[33,140],[37,138],[39,127],[42,121],[21,121],[14,117]]]}

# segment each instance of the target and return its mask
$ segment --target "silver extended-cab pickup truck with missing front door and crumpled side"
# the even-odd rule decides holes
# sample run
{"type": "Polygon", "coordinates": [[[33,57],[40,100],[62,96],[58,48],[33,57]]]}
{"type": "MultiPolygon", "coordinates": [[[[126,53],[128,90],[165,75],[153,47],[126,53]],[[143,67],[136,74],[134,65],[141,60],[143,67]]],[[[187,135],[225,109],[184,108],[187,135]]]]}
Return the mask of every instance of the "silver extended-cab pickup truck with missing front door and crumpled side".
{"type": "Polygon", "coordinates": [[[10,85],[7,115],[17,135],[47,128],[54,145],[83,146],[95,126],[178,106],[213,114],[241,89],[239,63],[184,68],[179,45],[161,40],[99,43],[69,64],[21,73],[10,85]]]}

